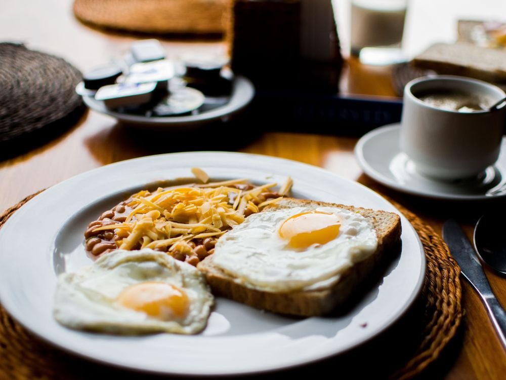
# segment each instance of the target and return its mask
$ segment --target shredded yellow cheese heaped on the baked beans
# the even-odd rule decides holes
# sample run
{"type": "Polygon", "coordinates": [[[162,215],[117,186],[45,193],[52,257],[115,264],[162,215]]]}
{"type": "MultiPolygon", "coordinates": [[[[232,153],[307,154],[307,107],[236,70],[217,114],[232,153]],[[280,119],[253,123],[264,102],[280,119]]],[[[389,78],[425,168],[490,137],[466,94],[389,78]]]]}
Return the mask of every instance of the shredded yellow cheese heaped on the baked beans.
{"type": "MultiPolygon", "coordinates": [[[[114,230],[120,249],[152,248],[190,254],[193,239],[218,238],[244,218],[262,209],[289,192],[292,181],[288,177],[281,186],[281,197],[269,198],[277,183],[268,183],[247,190],[247,179],[208,182],[201,169],[192,172],[201,182],[181,187],[159,187],[153,193],[146,190],[134,194],[126,203],[130,213],[122,223],[98,226],[94,232],[114,230]],[[245,186],[234,185],[244,184],[245,186]]],[[[193,245],[195,246],[195,245],[193,245]]]]}

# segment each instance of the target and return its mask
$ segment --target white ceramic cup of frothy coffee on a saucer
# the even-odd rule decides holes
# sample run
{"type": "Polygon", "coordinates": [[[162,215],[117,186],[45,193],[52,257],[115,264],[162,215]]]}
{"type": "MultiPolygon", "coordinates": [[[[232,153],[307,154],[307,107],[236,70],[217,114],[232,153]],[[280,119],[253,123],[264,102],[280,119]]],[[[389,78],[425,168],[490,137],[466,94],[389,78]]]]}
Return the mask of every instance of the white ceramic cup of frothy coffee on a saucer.
{"type": "Polygon", "coordinates": [[[455,75],[418,78],[404,88],[400,148],[415,164],[416,171],[438,180],[479,175],[499,157],[506,106],[462,112],[417,97],[431,91],[479,95],[490,105],[506,94],[489,83],[455,75]]]}

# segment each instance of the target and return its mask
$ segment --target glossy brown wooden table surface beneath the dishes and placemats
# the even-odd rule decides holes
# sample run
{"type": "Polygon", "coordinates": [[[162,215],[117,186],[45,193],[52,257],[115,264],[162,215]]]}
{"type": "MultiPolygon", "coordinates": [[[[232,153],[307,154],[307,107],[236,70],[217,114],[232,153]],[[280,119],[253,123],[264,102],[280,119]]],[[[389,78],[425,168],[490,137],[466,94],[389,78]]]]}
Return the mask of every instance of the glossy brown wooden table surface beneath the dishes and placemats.
{"type": "MultiPolygon", "coordinates": [[[[133,36],[106,34],[81,25],[73,18],[70,0],[10,2],[4,4],[0,12],[0,40],[23,41],[29,48],[64,57],[81,70],[99,66],[112,56],[120,55],[135,39],[133,36]]],[[[188,50],[216,52],[225,49],[223,44],[216,42],[165,41],[164,45],[174,56],[188,50]]],[[[345,87],[349,93],[394,94],[389,71],[385,68],[364,67],[349,60],[346,75],[345,87]]],[[[353,156],[355,143],[356,139],[353,138],[269,132],[256,136],[241,151],[323,167],[389,195],[414,211],[438,233],[446,218],[455,217],[471,234],[473,223],[483,211],[482,206],[424,201],[390,191],[362,174],[353,156]],[[292,149],[293,146],[299,148],[292,149]]],[[[74,128],[53,142],[0,163],[0,212],[25,196],[73,175],[153,153],[160,152],[125,138],[122,127],[113,119],[89,111],[74,128]]],[[[499,300],[506,305],[506,281],[488,270],[487,276],[499,300]]],[[[452,345],[450,352],[445,352],[436,363],[435,374],[447,379],[504,378],[506,353],[478,296],[465,281],[462,284],[466,314],[461,328],[461,347],[459,344],[452,345]]]]}

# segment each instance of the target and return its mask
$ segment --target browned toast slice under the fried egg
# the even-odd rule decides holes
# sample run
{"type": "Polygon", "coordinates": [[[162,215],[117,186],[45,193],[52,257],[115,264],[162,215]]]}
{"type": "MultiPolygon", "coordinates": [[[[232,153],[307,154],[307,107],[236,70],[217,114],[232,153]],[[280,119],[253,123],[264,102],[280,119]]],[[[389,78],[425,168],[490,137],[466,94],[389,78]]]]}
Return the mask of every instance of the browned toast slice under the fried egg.
{"type": "Polygon", "coordinates": [[[247,287],[217,267],[213,262],[213,255],[210,255],[201,261],[197,268],[205,275],[213,294],[275,313],[306,317],[327,314],[343,305],[353,292],[366,282],[388,253],[395,251],[395,246],[400,242],[400,217],[392,212],[294,198],[283,198],[262,212],[300,206],[338,207],[359,213],[372,223],[378,239],[376,251],[323,288],[292,292],[269,292],[247,287]]]}

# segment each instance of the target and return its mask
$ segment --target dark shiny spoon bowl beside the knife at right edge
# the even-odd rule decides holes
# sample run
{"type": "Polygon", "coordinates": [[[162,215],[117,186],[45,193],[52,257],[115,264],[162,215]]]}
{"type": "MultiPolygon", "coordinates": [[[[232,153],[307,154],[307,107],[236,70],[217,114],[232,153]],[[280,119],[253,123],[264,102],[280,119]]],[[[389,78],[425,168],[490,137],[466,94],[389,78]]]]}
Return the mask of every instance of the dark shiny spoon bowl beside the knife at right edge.
{"type": "Polygon", "coordinates": [[[506,275],[506,219],[485,214],[476,223],[474,245],[480,258],[506,275]]]}

